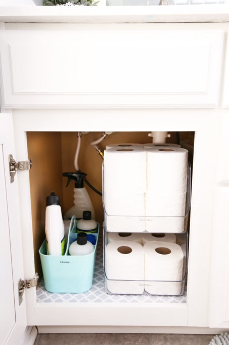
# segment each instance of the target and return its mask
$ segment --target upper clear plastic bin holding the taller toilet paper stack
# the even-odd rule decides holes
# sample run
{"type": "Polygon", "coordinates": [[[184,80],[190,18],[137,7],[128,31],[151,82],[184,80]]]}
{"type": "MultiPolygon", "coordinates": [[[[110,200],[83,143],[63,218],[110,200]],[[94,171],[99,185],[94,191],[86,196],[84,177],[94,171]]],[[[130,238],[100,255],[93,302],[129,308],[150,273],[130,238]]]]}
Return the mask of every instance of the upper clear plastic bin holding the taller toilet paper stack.
{"type": "MultiPolygon", "coordinates": [[[[104,190],[104,166],[103,166],[104,190]]],[[[108,232],[166,232],[183,233],[187,231],[188,216],[191,206],[191,165],[187,167],[187,193],[185,212],[179,216],[151,216],[147,215],[113,215],[106,210],[106,199],[103,192],[104,221],[108,232]]]]}

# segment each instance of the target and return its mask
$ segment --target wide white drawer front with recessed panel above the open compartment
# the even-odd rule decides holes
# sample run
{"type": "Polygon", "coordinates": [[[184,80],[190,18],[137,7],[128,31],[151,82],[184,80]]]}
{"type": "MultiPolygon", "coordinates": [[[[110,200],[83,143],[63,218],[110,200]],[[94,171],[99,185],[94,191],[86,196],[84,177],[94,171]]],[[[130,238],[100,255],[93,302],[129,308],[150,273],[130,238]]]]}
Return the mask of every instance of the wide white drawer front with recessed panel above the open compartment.
{"type": "Polygon", "coordinates": [[[222,30],[74,28],[0,32],[5,108],[217,106],[222,30]]]}

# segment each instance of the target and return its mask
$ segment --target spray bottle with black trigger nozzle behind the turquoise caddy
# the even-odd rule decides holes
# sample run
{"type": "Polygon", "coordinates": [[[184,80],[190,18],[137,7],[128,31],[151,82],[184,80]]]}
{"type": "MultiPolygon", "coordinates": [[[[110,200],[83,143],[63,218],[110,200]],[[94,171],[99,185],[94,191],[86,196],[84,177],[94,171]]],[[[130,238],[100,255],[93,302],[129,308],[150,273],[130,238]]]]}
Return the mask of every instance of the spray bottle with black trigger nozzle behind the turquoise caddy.
{"type": "Polygon", "coordinates": [[[64,220],[71,219],[75,216],[76,219],[81,219],[83,217],[83,211],[89,210],[91,212],[92,218],[95,218],[95,211],[93,204],[91,203],[90,197],[87,193],[86,188],[83,185],[83,180],[86,176],[84,172],[64,172],[63,176],[68,178],[66,187],[69,185],[70,181],[75,181],[74,187],[74,206],[72,206],[64,215],[64,220]]]}

